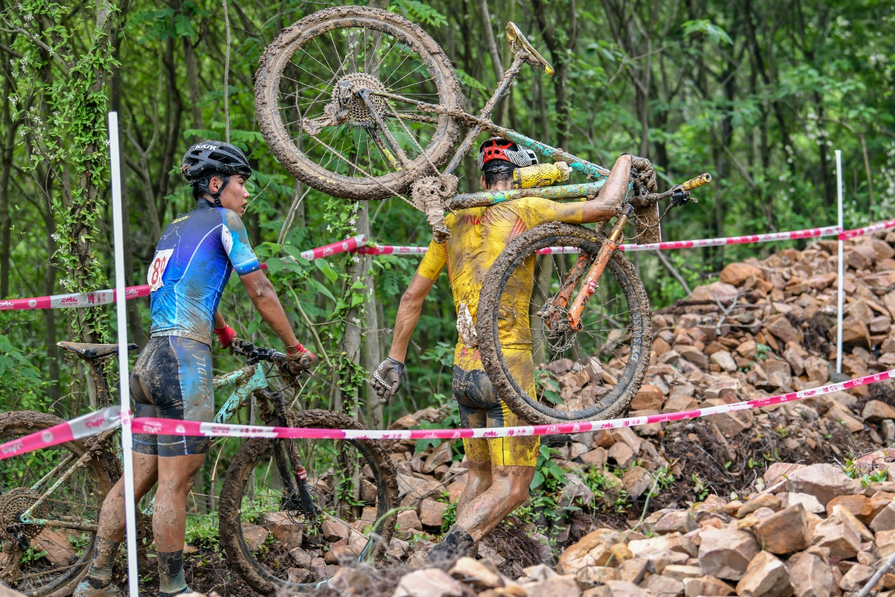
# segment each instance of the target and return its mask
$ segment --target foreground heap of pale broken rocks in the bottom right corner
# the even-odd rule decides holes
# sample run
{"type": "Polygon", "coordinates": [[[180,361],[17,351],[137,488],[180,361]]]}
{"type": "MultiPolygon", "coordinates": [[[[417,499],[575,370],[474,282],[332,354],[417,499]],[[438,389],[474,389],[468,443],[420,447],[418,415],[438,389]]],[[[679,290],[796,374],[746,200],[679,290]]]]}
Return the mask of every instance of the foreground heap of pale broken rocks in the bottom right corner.
{"type": "MultiPolygon", "coordinates": [[[[888,456],[859,463],[882,470],[888,456]]],[[[710,496],[654,512],[632,531],[592,531],[566,549],[557,573],[586,597],[853,597],[895,553],[895,482],[862,483],[823,463],[777,463],[763,480],[742,501],[710,496]]],[[[874,587],[891,589],[892,574],[874,587]]]]}

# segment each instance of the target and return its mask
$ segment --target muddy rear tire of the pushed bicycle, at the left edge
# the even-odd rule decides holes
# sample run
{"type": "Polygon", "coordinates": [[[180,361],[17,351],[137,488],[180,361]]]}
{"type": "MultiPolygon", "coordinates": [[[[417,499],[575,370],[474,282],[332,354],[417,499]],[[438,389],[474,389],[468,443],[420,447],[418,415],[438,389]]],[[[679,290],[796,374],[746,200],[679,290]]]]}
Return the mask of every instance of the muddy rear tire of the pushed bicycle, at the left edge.
{"type": "MultiPolygon", "coordinates": [[[[41,429],[55,427],[64,422],[65,420],[48,412],[0,412],[0,444],[4,443],[6,438],[10,436],[28,435],[41,429]]],[[[114,485],[113,480],[117,479],[115,463],[108,450],[97,449],[94,446],[85,446],[79,440],[64,442],[59,447],[64,447],[78,456],[81,456],[89,449],[94,451],[93,457],[85,463],[85,466],[90,471],[90,476],[96,482],[97,489],[102,493],[100,498],[105,498],[114,485]]],[[[100,499],[99,503],[102,503],[102,499],[100,499]]],[[[77,584],[87,574],[87,568],[90,566],[90,554],[93,551],[93,541],[94,538],[91,538],[90,543],[82,552],[82,561],[79,560],[78,565],[71,567],[69,574],[62,575],[55,582],[40,587],[41,591],[24,594],[29,595],[29,597],[67,597],[71,595],[77,584]]]]}

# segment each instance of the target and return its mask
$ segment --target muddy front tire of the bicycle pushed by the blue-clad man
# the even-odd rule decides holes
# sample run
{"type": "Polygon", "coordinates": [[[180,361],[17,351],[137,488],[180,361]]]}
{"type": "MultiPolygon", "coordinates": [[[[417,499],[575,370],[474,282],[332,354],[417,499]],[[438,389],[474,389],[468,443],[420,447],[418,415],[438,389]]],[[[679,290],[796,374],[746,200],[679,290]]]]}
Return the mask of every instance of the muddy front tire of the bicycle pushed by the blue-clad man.
{"type": "MultiPolygon", "coordinates": [[[[337,429],[366,429],[357,420],[345,414],[333,411],[311,410],[291,411],[288,413],[289,427],[301,428],[337,428],[337,429]]],[[[246,441],[243,449],[230,461],[224,486],[220,493],[220,506],[218,509],[218,528],[220,540],[224,547],[226,560],[234,567],[246,584],[262,594],[272,595],[277,591],[277,583],[266,571],[259,570],[252,564],[254,558],[245,543],[240,521],[240,508],[242,505],[243,486],[249,480],[255,469],[258,458],[264,454],[268,446],[276,441],[274,438],[254,437],[246,441]]],[[[347,440],[346,440],[347,441],[347,440]]],[[[370,464],[373,476],[377,481],[379,500],[377,503],[377,517],[382,517],[398,505],[398,485],[395,463],[388,456],[388,450],[382,442],[371,440],[351,440],[355,445],[360,445],[359,451],[369,454],[367,463],[370,464]]],[[[368,454],[364,454],[365,456],[368,454]]],[[[378,559],[388,546],[392,534],[395,532],[396,514],[388,515],[379,528],[381,539],[374,541],[372,558],[378,559]]],[[[314,584],[299,585],[310,589],[314,584]]],[[[298,588],[291,585],[290,588],[298,588]]]]}

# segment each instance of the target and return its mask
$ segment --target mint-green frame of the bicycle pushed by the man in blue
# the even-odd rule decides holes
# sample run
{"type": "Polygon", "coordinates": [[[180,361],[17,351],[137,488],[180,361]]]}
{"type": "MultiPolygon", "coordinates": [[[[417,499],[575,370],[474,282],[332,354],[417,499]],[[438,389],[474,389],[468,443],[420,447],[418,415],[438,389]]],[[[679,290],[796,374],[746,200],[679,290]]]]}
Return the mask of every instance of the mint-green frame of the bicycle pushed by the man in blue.
{"type": "MultiPolygon", "coordinates": [[[[104,385],[105,385],[105,380],[104,385]]],[[[226,399],[224,405],[217,411],[215,414],[214,422],[215,423],[226,423],[228,420],[232,419],[236,411],[239,411],[243,406],[246,406],[251,401],[251,395],[260,390],[267,389],[268,380],[264,376],[264,370],[259,367],[259,364],[248,365],[241,369],[237,369],[236,371],[232,371],[230,373],[226,373],[222,376],[216,376],[212,381],[212,386],[214,389],[227,387],[229,385],[235,385],[233,394],[226,399]]],[[[115,432],[115,429],[110,429],[104,432],[102,435],[98,436],[98,441],[103,441],[110,435],[115,432]]],[[[95,440],[96,441],[96,440],[95,440]]],[[[76,531],[87,531],[87,532],[96,532],[97,525],[96,524],[85,524],[78,521],[67,521],[64,519],[47,519],[47,518],[32,518],[35,508],[40,506],[44,500],[53,494],[53,492],[62,485],[65,480],[68,480],[69,477],[72,476],[73,472],[75,472],[82,463],[86,462],[86,460],[90,457],[90,450],[85,452],[81,457],[68,467],[65,472],[59,475],[62,472],[63,467],[70,463],[73,456],[69,456],[64,459],[62,463],[57,464],[51,472],[48,472],[44,477],[38,480],[30,489],[33,491],[40,491],[44,487],[44,484],[47,480],[56,479],[53,485],[49,488],[42,491],[42,495],[38,498],[38,500],[30,506],[25,512],[21,514],[19,520],[22,524],[41,524],[44,526],[48,526],[50,528],[63,528],[63,529],[72,529],[76,531]]]]}

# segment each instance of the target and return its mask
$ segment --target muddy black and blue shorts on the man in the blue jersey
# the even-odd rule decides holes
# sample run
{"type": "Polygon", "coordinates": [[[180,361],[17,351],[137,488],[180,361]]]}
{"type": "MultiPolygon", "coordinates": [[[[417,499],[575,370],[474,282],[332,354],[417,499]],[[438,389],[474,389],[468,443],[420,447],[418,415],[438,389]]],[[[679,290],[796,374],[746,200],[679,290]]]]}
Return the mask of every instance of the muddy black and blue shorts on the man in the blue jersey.
{"type": "MultiPolygon", "coordinates": [[[[180,336],[150,338],[131,373],[134,417],[212,420],[208,344],[180,336]]],[[[209,437],[133,434],[133,451],[158,456],[205,454],[209,437]]]]}

